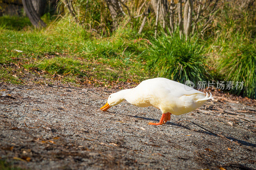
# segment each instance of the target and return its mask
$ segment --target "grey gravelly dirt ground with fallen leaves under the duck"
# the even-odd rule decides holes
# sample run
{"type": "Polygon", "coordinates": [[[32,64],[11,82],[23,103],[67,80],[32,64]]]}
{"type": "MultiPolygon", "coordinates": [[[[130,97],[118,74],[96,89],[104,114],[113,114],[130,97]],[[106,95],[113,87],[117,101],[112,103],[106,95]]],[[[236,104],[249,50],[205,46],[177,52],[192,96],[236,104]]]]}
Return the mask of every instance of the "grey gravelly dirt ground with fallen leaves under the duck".
{"type": "Polygon", "coordinates": [[[101,111],[106,90],[6,83],[0,90],[0,157],[17,167],[256,169],[254,100],[212,91],[201,108],[153,126],[161,117],[153,107],[123,102],[101,111]]]}

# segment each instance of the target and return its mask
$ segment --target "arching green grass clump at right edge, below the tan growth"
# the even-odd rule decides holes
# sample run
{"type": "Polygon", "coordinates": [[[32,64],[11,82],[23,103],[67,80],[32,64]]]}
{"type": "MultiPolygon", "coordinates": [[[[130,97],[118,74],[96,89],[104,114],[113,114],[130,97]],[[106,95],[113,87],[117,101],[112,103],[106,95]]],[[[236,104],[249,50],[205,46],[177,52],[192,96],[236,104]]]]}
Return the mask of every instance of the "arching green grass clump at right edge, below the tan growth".
{"type": "Polygon", "coordinates": [[[236,50],[228,50],[218,63],[217,69],[220,70],[225,81],[244,81],[244,87],[231,89],[232,93],[256,99],[256,46],[254,44],[241,45],[236,50]]]}

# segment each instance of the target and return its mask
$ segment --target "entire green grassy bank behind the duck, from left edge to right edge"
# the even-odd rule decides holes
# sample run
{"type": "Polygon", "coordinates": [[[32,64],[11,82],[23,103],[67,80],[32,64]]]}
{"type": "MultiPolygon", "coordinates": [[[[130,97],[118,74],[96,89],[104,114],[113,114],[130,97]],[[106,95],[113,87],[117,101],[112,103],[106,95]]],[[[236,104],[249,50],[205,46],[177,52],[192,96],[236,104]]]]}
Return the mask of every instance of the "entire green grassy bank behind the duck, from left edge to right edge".
{"type": "Polygon", "coordinates": [[[220,15],[225,22],[216,21],[208,38],[195,34],[190,41],[178,32],[156,39],[152,32],[138,35],[129,25],[102,37],[70,18],[35,30],[28,18],[0,17],[0,81],[22,83],[28,73],[106,87],[157,76],[182,83],[244,81],[244,89],[231,92],[256,98],[255,21],[247,13],[232,18],[232,12],[220,15]]]}

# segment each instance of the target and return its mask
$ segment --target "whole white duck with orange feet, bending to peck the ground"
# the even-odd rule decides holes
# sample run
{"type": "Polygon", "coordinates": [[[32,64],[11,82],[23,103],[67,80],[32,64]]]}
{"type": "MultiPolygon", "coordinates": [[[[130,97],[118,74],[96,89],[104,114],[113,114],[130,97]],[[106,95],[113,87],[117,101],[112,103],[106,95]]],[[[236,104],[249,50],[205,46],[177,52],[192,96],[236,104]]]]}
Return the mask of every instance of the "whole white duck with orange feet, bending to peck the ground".
{"type": "Polygon", "coordinates": [[[179,82],[166,78],[154,78],[142,81],[135,88],[111,94],[108,102],[100,110],[106,111],[124,100],[139,107],[154,106],[162,111],[162,117],[159,123],[149,122],[148,124],[162,125],[170,120],[171,114],[188,113],[202,106],[206,100],[213,98],[212,94],[208,97],[207,92],[206,96],[204,95],[203,92],[179,82]]]}

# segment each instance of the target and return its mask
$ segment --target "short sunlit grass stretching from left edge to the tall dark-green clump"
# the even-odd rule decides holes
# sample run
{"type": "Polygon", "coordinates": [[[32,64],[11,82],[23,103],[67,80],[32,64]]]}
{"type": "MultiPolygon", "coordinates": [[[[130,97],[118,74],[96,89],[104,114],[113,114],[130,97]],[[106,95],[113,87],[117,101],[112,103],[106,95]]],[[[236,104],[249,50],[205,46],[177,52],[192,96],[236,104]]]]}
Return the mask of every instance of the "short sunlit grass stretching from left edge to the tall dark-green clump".
{"type": "Polygon", "coordinates": [[[46,77],[60,74],[64,81],[79,83],[97,79],[104,82],[95,85],[117,80],[139,82],[145,79],[145,73],[135,57],[145,46],[141,45],[143,42],[131,41],[128,33],[118,35],[117,32],[116,37],[96,39],[68,20],[54,22],[40,31],[2,28],[0,67],[4,70],[6,66],[14,65],[14,73],[3,74],[6,81],[12,81],[12,74],[26,69],[33,74],[44,71],[46,77]]]}

